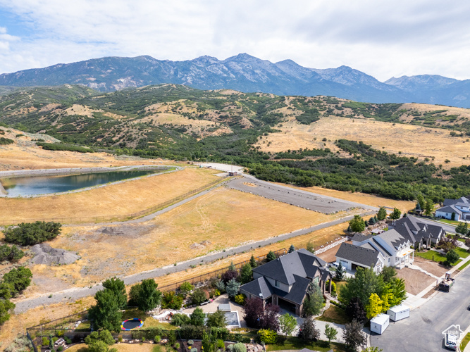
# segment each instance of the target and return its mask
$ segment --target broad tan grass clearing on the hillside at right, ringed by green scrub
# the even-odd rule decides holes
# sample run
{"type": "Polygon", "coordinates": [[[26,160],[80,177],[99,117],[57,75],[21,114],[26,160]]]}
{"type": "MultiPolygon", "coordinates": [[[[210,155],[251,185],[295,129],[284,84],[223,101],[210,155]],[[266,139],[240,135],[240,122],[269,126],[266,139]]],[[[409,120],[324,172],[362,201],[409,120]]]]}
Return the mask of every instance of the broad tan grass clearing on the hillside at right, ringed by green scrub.
{"type": "Polygon", "coordinates": [[[350,139],[391,153],[401,151],[403,156],[414,156],[421,161],[423,158],[435,157],[435,165],[442,164],[445,168],[470,164],[470,158],[467,157],[470,156],[470,142],[466,142],[466,138],[450,137],[448,130],[437,128],[327,117],[311,125],[302,125],[290,120],[283,122],[282,127],[276,129],[282,132],[271,133],[256,144],[261,146],[262,151],[276,153],[287,149],[327,147],[336,152],[336,139],[350,139]],[[323,142],[323,138],[328,141],[323,142]],[[446,159],[450,163],[445,163],[446,159]]]}

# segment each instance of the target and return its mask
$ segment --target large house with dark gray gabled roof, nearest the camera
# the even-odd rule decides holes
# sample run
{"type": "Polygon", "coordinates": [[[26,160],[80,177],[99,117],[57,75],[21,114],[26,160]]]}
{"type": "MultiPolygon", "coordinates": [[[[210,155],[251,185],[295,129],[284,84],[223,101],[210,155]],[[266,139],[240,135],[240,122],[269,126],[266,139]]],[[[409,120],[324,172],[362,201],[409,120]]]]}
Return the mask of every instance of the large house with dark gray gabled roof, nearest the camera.
{"type": "Polygon", "coordinates": [[[299,249],[253,269],[252,282],[242,285],[240,291],[247,298],[260,298],[281,308],[302,315],[302,306],[311,282],[323,293],[331,291],[326,282],[331,278],[326,262],[305,249],[299,249]]]}

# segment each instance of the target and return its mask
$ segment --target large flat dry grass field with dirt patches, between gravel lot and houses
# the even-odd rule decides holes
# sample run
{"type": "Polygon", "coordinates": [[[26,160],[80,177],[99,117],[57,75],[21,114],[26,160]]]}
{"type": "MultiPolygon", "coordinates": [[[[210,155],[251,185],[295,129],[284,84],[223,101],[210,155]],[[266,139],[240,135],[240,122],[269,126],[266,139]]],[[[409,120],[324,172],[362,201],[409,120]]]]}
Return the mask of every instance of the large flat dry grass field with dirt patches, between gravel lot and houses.
{"type": "MultiPolygon", "coordinates": [[[[110,227],[66,227],[49,243],[77,252],[81,258],[70,265],[34,265],[35,284],[25,295],[44,294],[51,287],[58,291],[85,286],[112,275],[132,275],[342,218],[354,211],[325,215],[232,189],[214,189],[154,220],[116,225],[125,226],[121,227],[122,234],[110,234],[110,227]]],[[[326,241],[319,232],[318,243],[326,241]]]]}

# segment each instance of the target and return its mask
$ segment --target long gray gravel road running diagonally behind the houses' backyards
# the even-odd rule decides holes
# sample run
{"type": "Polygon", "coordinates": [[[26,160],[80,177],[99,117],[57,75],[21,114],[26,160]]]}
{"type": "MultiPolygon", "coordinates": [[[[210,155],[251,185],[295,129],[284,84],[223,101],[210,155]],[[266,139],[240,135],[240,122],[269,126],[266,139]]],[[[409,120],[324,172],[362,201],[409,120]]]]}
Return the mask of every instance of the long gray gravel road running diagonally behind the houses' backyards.
{"type": "MultiPolygon", "coordinates": [[[[371,215],[373,213],[376,213],[376,212],[367,211],[365,213],[362,213],[361,215],[365,216],[365,215],[371,215]]],[[[330,227],[333,225],[340,224],[342,222],[347,222],[351,220],[352,218],[353,218],[353,215],[347,216],[345,218],[341,218],[338,220],[325,222],[320,225],[307,227],[302,230],[289,232],[287,234],[280,234],[277,237],[271,237],[269,239],[264,239],[262,241],[256,241],[251,244],[245,244],[243,246],[235,247],[233,249],[226,249],[225,252],[221,251],[217,253],[211,253],[206,256],[194,258],[192,260],[187,260],[186,262],[183,262],[183,263],[178,263],[177,265],[168,265],[163,268],[149,270],[147,272],[140,272],[139,274],[130,275],[128,277],[123,277],[123,280],[125,284],[135,284],[137,282],[141,282],[143,279],[150,279],[150,278],[170,274],[173,272],[180,272],[180,271],[191,268],[191,265],[199,265],[201,263],[211,263],[214,260],[221,259],[221,258],[230,256],[232,254],[249,251],[250,249],[256,248],[258,246],[267,246],[268,244],[273,244],[278,241],[282,241],[284,239],[290,239],[292,237],[300,236],[302,234],[308,234],[309,232],[312,232],[312,231],[324,229],[325,227],[330,227]]],[[[18,302],[15,302],[16,303],[15,313],[17,314],[24,313],[26,310],[31,309],[31,308],[35,308],[38,306],[48,306],[49,304],[58,303],[64,300],[75,301],[83,297],[93,296],[97,291],[101,289],[103,289],[101,284],[97,284],[96,286],[93,286],[93,287],[80,287],[80,288],[73,288],[73,289],[67,289],[64,291],[54,292],[51,297],[49,297],[49,294],[44,294],[37,298],[29,298],[24,301],[18,301],[18,302]]]]}

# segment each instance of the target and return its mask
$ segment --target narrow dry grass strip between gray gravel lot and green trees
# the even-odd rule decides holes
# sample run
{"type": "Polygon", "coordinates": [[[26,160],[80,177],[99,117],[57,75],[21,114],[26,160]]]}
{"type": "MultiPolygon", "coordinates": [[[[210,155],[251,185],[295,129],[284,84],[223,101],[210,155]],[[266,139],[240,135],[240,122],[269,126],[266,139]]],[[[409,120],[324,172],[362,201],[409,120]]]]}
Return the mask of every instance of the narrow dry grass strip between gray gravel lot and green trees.
{"type": "Polygon", "coordinates": [[[316,194],[322,194],[323,196],[330,196],[345,201],[354,201],[356,203],[366,204],[367,206],[388,206],[390,208],[399,208],[402,212],[413,209],[416,204],[412,201],[397,201],[395,199],[383,198],[380,196],[373,196],[372,194],[350,192],[350,191],[336,191],[335,189],[328,189],[322,187],[295,187],[291,184],[281,184],[283,186],[302,189],[316,194]]]}

